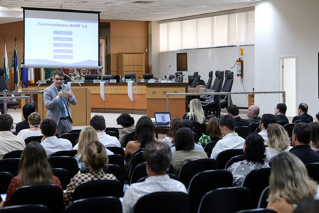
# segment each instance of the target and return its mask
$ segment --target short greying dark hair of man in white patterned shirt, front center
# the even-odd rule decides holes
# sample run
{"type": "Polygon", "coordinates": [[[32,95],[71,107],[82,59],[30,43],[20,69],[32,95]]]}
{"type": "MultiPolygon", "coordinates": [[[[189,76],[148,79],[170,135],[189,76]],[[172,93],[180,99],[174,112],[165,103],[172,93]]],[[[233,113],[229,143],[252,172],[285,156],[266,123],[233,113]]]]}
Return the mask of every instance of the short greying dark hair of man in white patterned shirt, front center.
{"type": "Polygon", "coordinates": [[[152,172],[159,174],[169,168],[171,151],[167,144],[152,142],[146,145],[143,157],[148,162],[152,172]]]}

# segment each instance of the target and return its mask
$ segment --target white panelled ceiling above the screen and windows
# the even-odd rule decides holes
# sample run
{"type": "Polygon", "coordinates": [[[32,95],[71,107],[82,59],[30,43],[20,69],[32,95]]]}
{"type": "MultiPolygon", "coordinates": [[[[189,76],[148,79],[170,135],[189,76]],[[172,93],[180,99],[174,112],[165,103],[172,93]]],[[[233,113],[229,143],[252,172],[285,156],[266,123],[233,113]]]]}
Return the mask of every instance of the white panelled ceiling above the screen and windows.
{"type": "Polygon", "coordinates": [[[21,7],[101,11],[100,19],[158,21],[255,5],[254,1],[248,0],[80,1],[83,2],[72,3],[72,0],[0,0],[0,23],[22,20],[21,7]]]}

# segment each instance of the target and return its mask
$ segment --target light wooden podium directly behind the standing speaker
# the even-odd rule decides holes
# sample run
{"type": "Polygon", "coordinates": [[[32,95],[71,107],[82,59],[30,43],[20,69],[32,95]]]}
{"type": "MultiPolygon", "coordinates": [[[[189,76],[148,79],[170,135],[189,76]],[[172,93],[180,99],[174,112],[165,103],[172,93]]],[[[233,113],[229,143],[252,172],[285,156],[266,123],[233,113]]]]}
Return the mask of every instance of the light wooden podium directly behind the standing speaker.
{"type": "MultiPolygon", "coordinates": [[[[76,105],[70,104],[73,124],[72,126],[87,126],[91,120],[91,89],[89,88],[71,88],[77,100],[76,105]]],[[[26,88],[22,91],[41,91],[42,89],[26,88]]],[[[40,114],[41,120],[46,118],[47,109],[43,101],[43,94],[34,94],[33,101],[36,106],[36,111],[40,114]]],[[[21,105],[24,106],[25,99],[21,100],[21,105]]],[[[22,113],[23,120],[23,113],[22,113]]]]}

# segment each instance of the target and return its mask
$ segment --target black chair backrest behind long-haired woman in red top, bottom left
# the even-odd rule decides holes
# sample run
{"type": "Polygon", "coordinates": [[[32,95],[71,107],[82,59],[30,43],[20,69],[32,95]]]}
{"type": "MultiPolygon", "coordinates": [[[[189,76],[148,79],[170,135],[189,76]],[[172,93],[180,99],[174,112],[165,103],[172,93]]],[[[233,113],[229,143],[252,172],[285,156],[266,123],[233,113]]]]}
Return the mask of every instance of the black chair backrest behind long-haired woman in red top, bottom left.
{"type": "Polygon", "coordinates": [[[51,213],[62,213],[63,191],[53,184],[20,187],[13,191],[8,205],[25,204],[41,204],[49,208],[51,213]]]}

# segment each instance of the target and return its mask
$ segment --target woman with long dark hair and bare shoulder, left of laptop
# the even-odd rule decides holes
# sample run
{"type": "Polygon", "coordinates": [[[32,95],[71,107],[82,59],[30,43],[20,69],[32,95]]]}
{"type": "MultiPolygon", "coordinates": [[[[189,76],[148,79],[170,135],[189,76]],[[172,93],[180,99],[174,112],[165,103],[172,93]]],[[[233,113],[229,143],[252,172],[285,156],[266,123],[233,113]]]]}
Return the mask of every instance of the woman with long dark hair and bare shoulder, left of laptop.
{"type": "Polygon", "coordinates": [[[136,141],[129,141],[125,148],[124,160],[129,161],[132,155],[139,149],[145,148],[148,143],[156,141],[154,137],[154,125],[149,116],[142,116],[136,123],[136,141]]]}

